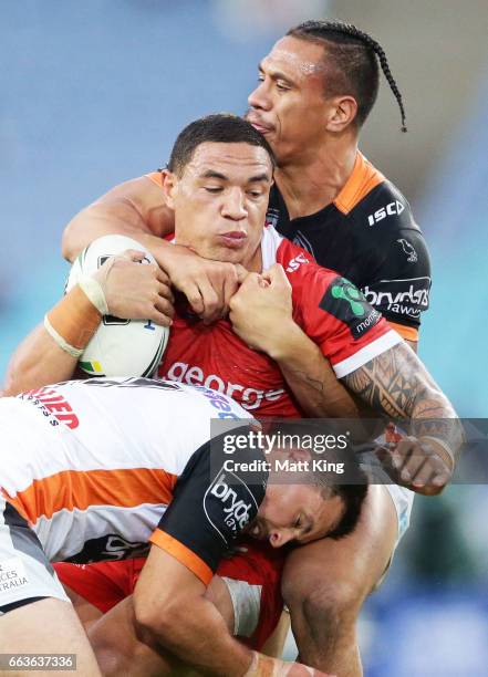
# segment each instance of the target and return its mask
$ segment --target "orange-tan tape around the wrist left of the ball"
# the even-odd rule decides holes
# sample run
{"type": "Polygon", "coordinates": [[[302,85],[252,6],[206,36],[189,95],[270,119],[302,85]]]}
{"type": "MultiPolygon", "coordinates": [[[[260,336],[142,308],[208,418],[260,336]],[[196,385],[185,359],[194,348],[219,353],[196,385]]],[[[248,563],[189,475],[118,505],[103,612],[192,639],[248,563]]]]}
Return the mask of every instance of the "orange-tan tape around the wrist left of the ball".
{"type": "Polygon", "coordinates": [[[77,284],[45,314],[44,327],[72,357],[80,357],[98,329],[102,313],[77,284]]]}

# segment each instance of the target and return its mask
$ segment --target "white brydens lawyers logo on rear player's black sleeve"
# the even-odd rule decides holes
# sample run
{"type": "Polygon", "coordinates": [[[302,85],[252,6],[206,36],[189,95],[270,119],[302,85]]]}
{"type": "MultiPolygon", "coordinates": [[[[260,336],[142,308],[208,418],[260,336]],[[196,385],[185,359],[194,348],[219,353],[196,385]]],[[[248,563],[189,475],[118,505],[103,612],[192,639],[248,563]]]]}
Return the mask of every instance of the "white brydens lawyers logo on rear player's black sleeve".
{"type": "Polygon", "coordinates": [[[365,299],[381,311],[418,320],[428,309],[430,278],[381,280],[363,290],[365,299]]]}

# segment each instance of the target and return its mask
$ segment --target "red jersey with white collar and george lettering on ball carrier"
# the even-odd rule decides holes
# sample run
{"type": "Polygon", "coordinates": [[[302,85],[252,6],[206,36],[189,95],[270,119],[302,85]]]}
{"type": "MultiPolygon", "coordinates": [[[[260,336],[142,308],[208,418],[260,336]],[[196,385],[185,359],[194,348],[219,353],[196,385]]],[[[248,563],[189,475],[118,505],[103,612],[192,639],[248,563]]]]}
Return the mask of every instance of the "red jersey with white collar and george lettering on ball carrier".
{"type": "MultiPolygon", "coordinates": [[[[292,288],[293,319],[322,350],[338,378],[402,341],[361,292],[311,256],[264,228],[262,268],[280,263],[292,288]]],[[[249,309],[252,312],[252,309],[249,309]]],[[[158,375],[206,385],[262,416],[301,416],[277,363],[241,341],[228,320],[205,325],[177,310],[158,375]]]]}

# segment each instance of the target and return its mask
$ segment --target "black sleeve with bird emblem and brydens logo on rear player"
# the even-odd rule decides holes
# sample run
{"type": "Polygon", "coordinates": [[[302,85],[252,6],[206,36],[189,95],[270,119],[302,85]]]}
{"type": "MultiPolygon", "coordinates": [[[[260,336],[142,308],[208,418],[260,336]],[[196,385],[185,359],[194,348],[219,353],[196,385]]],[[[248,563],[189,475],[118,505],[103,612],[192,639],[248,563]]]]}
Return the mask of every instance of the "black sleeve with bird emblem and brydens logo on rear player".
{"type": "Polygon", "coordinates": [[[383,242],[382,261],[362,291],[404,338],[416,341],[430,283],[430,257],[422,232],[399,228],[383,242]]]}

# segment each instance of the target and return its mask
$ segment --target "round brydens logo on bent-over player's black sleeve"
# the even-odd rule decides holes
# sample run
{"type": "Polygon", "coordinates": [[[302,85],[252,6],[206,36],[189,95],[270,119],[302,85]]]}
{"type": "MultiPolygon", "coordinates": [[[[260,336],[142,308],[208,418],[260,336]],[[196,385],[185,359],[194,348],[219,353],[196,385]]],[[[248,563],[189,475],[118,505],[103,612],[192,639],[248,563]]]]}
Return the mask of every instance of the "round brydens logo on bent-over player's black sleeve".
{"type": "Polygon", "coordinates": [[[229,543],[256,517],[258,503],[249,487],[222,466],[205,492],[204,510],[224,542],[229,543]]]}

